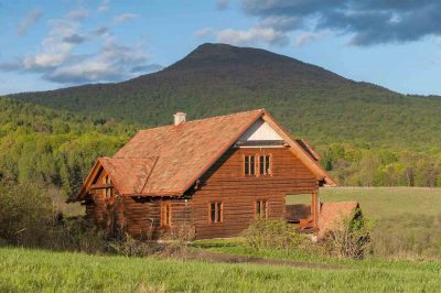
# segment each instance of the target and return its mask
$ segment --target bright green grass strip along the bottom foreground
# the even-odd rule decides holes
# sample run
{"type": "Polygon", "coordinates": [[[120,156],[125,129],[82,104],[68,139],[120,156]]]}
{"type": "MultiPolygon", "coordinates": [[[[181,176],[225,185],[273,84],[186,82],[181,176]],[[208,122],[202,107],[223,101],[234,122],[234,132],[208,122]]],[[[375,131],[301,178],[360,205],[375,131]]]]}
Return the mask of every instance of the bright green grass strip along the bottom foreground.
{"type": "Polygon", "coordinates": [[[0,249],[1,292],[437,292],[440,275],[437,262],[310,269],[0,249]]]}

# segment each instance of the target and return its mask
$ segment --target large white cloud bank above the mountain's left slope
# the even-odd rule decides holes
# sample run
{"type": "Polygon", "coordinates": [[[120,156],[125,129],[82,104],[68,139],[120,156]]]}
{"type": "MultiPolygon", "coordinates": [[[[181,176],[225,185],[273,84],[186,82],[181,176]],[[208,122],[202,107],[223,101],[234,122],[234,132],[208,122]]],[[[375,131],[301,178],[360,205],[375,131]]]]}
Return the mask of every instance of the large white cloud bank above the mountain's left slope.
{"type": "MultiPolygon", "coordinates": [[[[99,26],[82,34],[82,20],[87,17],[83,9],[73,10],[64,19],[49,22],[50,31],[41,42],[41,48],[17,59],[0,63],[0,70],[39,73],[42,78],[60,84],[120,82],[141,73],[162,68],[149,63],[143,43],[121,44],[107,26],[99,26]],[[100,42],[100,47],[88,54],[78,54],[78,47],[88,41],[100,42]]],[[[125,13],[116,17],[117,23],[137,17],[125,13]]]]}

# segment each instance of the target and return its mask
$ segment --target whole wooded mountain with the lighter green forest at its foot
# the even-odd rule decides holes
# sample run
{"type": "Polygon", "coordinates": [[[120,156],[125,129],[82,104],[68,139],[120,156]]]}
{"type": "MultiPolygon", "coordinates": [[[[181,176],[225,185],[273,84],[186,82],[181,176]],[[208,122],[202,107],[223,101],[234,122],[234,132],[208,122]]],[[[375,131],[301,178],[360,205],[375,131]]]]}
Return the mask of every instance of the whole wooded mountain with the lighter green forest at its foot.
{"type": "Polygon", "coordinates": [[[256,108],[315,146],[340,185],[441,186],[439,97],[404,96],[265,50],[204,44],[123,83],[10,98],[0,99],[0,177],[65,194],[140,127],[169,124],[176,111],[196,119],[256,108]]]}

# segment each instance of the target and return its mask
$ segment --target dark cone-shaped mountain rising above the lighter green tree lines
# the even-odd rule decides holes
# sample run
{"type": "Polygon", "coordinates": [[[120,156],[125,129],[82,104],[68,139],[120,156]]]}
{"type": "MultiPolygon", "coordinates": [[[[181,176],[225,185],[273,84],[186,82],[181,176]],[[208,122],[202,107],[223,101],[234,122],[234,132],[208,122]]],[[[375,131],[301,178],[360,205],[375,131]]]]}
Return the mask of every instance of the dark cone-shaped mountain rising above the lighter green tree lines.
{"type": "Polygon", "coordinates": [[[196,119],[266,108],[313,144],[428,150],[441,138],[438,98],[404,96],[265,50],[225,44],[203,44],[161,72],[123,83],[11,97],[144,126],[170,123],[176,111],[196,119]]]}

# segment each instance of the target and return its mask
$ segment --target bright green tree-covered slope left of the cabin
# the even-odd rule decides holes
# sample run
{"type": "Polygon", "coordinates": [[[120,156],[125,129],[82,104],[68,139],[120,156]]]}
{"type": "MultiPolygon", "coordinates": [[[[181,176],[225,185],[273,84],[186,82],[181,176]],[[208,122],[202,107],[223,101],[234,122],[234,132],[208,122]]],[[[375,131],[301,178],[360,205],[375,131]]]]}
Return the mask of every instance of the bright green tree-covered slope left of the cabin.
{"type": "Polygon", "coordinates": [[[0,99],[0,177],[53,185],[69,195],[96,158],[112,155],[136,130],[136,126],[0,99]]]}

